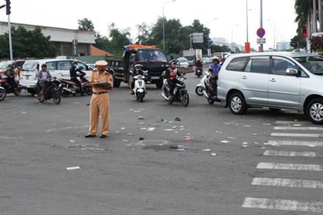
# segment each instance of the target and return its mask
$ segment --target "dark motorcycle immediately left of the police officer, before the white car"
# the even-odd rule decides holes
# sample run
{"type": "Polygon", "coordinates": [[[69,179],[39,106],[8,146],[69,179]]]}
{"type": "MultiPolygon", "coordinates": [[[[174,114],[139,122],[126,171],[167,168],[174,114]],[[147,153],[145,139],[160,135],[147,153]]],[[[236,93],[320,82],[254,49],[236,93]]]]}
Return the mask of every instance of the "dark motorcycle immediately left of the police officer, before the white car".
{"type": "MultiPolygon", "coordinates": [[[[85,75],[86,73],[80,74],[80,84],[87,95],[92,95],[92,87],[89,85],[89,80],[84,77],[85,75]]],[[[80,93],[80,87],[73,80],[60,78],[60,82],[62,82],[60,93],[63,97],[68,97],[70,94],[75,96],[76,93],[80,93]]]]}

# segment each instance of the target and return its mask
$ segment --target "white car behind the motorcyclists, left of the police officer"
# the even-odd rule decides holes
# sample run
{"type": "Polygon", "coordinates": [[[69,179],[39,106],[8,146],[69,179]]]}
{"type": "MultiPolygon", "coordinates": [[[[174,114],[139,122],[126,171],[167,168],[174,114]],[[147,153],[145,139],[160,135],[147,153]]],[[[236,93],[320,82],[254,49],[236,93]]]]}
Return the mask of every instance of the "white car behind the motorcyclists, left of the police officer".
{"type": "Polygon", "coordinates": [[[56,77],[69,79],[69,69],[71,69],[73,61],[78,62],[78,69],[86,73],[85,78],[91,75],[91,67],[75,59],[43,59],[43,60],[26,60],[20,72],[19,83],[23,89],[27,89],[28,93],[33,95],[36,93],[37,72],[41,69],[41,65],[47,65],[49,73],[56,77]]]}

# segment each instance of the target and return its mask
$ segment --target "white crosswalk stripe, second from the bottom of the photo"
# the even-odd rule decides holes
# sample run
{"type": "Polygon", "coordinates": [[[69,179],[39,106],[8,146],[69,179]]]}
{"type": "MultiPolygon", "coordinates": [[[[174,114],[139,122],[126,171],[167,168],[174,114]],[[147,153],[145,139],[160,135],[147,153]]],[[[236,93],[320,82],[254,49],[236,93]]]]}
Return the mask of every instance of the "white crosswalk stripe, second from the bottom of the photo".
{"type": "Polygon", "coordinates": [[[277,186],[289,188],[323,188],[323,181],[303,180],[303,179],[282,179],[282,178],[254,178],[252,185],[277,186]]]}

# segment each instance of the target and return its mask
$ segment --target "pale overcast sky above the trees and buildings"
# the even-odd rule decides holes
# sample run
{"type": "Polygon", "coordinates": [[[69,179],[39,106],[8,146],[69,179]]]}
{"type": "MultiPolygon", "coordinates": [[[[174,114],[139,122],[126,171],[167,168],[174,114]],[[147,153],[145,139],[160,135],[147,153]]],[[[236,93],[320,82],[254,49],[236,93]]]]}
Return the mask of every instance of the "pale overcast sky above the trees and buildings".
{"type": "MultiPolygon", "coordinates": [[[[210,27],[211,38],[225,37],[228,42],[233,40],[238,44],[247,40],[247,11],[248,41],[258,49],[256,30],[260,27],[260,0],[11,1],[12,23],[77,29],[78,19],[87,18],[102,36],[107,36],[108,25],[114,22],[120,30],[130,28],[132,38],[137,36],[136,25],[156,23],[158,17],[163,16],[164,8],[166,19],[179,19],[182,25],[191,25],[194,19],[198,19],[205,27],[210,27]],[[249,10],[246,10],[246,2],[249,10]]],[[[273,47],[274,38],[276,42],[290,41],[296,35],[294,3],[295,0],[263,0],[265,49],[273,47]]],[[[8,21],[5,8],[0,9],[0,21],[8,21]]]]}

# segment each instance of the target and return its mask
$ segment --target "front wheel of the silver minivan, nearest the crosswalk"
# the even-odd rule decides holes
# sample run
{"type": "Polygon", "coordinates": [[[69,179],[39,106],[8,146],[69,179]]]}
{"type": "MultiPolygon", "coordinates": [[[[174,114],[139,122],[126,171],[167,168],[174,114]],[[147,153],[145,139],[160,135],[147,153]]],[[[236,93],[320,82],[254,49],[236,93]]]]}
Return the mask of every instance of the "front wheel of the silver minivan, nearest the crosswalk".
{"type": "Polygon", "coordinates": [[[311,100],[307,105],[306,115],[314,124],[323,124],[323,99],[311,100]]]}

